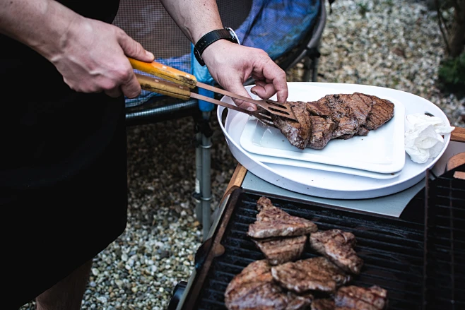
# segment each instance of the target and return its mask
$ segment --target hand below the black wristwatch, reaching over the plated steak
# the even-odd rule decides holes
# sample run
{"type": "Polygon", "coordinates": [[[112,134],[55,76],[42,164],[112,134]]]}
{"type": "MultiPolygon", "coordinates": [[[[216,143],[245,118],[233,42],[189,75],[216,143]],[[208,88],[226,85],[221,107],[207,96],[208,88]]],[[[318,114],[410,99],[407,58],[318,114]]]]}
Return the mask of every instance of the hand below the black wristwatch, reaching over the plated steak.
{"type": "MultiPolygon", "coordinates": [[[[264,99],[276,94],[279,102],[286,102],[288,98],[286,72],[262,49],[218,40],[205,49],[202,59],[211,76],[225,90],[250,97],[243,83],[252,76],[256,85],[251,89],[252,93],[264,99]]],[[[257,109],[249,102],[235,100],[235,103],[245,109],[257,109]]]]}

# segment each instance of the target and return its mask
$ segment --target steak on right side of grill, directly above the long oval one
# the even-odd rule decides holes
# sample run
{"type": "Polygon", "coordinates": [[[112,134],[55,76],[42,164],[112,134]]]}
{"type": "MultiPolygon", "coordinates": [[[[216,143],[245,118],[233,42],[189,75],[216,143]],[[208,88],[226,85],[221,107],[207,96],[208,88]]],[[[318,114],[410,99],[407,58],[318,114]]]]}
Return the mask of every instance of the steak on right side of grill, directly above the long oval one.
{"type": "Polygon", "coordinates": [[[310,246],[347,272],[358,274],[362,269],[363,260],[353,249],[355,236],[351,232],[341,229],[314,232],[310,235],[310,246]]]}

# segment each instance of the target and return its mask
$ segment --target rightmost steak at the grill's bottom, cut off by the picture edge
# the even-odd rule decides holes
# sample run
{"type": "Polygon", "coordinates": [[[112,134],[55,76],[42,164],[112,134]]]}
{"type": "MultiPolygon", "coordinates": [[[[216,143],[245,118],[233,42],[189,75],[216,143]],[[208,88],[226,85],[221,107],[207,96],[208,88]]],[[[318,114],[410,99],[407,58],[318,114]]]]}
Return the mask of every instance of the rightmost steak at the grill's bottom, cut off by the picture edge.
{"type": "Polygon", "coordinates": [[[341,287],[334,302],[336,309],[382,310],[387,305],[387,291],[378,286],[341,287]]]}

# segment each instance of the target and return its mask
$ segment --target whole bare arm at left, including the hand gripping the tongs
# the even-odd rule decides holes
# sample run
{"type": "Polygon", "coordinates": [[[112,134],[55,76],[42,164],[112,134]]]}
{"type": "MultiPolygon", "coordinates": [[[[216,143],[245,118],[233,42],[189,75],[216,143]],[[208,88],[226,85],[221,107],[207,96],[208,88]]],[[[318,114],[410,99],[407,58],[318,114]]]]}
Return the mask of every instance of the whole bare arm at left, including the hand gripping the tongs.
{"type": "Polygon", "coordinates": [[[83,93],[136,97],[141,86],[126,56],[154,59],[123,30],[53,0],[0,0],[0,33],[44,56],[83,93]]]}

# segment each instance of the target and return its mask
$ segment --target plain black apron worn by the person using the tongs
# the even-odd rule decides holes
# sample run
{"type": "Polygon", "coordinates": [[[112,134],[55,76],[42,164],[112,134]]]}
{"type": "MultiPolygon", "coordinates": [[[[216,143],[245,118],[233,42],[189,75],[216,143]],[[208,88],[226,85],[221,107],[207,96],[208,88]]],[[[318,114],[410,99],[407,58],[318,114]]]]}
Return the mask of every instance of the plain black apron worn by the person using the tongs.
{"type": "MultiPolygon", "coordinates": [[[[111,22],[118,1],[61,1],[111,22]]],[[[124,97],[70,90],[0,35],[0,208],[6,309],[92,259],[126,227],[124,97]],[[20,81],[20,83],[19,83],[20,81]]]]}

